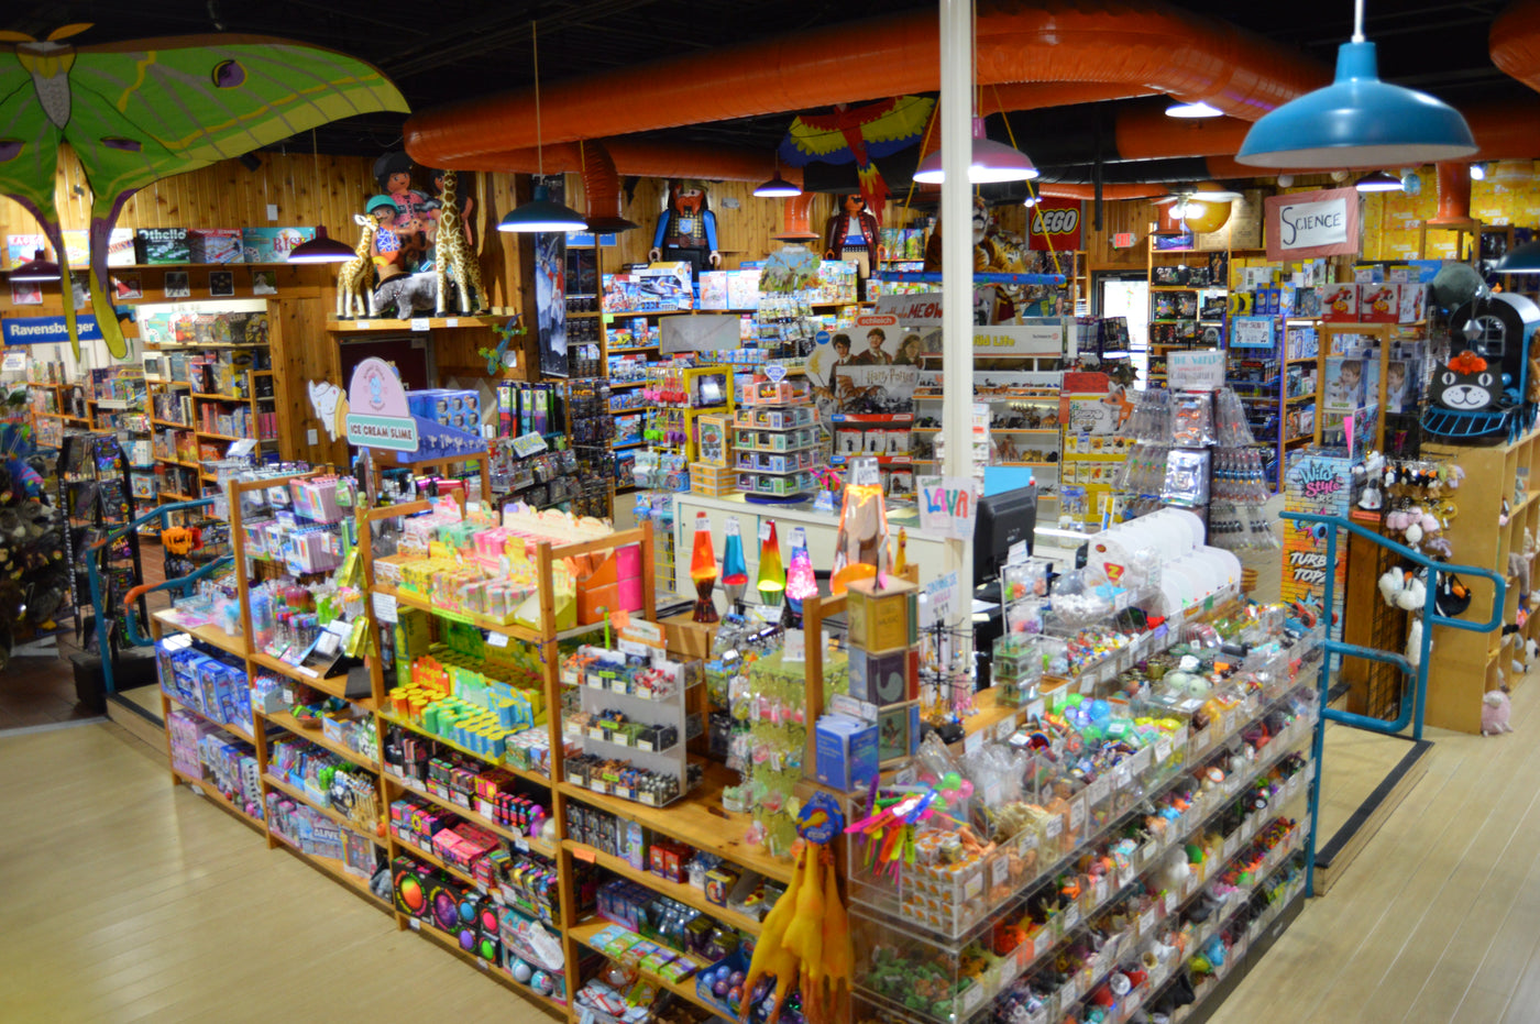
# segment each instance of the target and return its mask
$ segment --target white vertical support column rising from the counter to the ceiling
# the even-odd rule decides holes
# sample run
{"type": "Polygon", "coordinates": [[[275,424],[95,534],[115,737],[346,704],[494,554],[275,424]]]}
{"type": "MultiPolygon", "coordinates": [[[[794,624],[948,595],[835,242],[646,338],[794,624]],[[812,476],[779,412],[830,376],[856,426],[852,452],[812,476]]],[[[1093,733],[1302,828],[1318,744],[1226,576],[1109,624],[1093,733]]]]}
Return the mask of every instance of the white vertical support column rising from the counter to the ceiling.
{"type": "MultiPolygon", "coordinates": [[[[942,473],[973,476],[973,206],[967,168],[973,157],[973,5],[941,0],[941,437],[942,473]]],[[[973,542],[949,540],[962,611],[973,590],[973,542]]]]}

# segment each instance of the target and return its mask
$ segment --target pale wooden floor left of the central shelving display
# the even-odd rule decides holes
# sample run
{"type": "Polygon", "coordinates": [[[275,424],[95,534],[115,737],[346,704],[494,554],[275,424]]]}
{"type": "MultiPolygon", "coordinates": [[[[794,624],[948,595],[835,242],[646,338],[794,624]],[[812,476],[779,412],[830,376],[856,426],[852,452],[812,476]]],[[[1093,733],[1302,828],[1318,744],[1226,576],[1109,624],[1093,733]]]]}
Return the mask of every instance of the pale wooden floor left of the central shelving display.
{"type": "Polygon", "coordinates": [[[0,1021],[551,1018],[186,787],[117,725],[0,735],[0,1021]]]}

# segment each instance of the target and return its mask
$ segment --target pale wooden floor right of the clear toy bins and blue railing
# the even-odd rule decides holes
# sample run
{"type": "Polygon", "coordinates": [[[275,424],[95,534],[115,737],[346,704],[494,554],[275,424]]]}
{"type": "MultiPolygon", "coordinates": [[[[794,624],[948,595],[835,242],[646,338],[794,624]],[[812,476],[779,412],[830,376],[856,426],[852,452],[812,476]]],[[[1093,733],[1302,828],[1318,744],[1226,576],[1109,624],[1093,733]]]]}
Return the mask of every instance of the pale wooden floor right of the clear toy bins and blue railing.
{"type": "Polygon", "coordinates": [[[1214,1024],[1540,1021],[1535,676],[1514,733],[1428,731],[1428,775],[1214,1024]]]}

